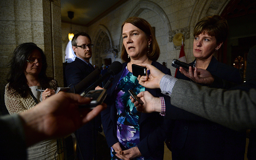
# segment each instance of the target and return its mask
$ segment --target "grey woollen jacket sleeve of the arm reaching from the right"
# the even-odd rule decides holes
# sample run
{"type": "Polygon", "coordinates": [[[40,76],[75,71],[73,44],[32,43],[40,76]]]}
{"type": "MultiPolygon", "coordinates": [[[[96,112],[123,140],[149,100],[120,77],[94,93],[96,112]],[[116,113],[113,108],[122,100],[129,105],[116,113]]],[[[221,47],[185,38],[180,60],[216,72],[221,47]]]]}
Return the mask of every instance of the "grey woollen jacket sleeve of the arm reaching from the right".
{"type": "Polygon", "coordinates": [[[256,128],[256,90],[213,89],[177,80],[171,104],[235,130],[256,128]]]}

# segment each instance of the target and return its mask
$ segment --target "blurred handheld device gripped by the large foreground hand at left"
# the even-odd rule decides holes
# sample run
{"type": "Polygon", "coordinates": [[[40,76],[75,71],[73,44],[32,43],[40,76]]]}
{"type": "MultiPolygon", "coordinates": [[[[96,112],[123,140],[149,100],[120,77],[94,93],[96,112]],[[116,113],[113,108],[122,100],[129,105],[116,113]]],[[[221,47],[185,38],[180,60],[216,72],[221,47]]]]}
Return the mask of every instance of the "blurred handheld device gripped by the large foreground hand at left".
{"type": "Polygon", "coordinates": [[[79,108],[94,108],[100,105],[103,100],[105,100],[106,96],[107,92],[105,89],[89,91],[84,95],[84,97],[92,98],[92,101],[90,102],[90,104],[80,105],[79,108]]]}

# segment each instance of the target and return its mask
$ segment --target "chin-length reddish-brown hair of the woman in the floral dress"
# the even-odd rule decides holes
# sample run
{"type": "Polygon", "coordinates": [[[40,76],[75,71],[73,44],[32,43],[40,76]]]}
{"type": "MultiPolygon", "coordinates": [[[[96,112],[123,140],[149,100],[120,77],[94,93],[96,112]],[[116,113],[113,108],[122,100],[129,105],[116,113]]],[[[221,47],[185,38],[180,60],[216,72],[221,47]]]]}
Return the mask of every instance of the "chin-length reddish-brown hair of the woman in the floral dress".
{"type": "MultiPolygon", "coordinates": [[[[123,33],[123,27],[124,27],[125,23],[131,23],[133,26],[142,30],[146,34],[147,38],[149,36],[151,36],[151,38],[152,38],[151,44],[152,45],[151,44],[149,45],[149,52],[147,53],[147,56],[150,60],[156,61],[159,58],[160,49],[159,49],[159,46],[156,41],[156,36],[155,36],[154,30],[151,27],[151,25],[148,23],[148,21],[146,21],[142,18],[139,18],[139,17],[129,17],[122,24],[122,33],[123,33]]],[[[128,54],[125,50],[124,43],[122,45],[121,58],[122,58],[122,60],[124,60],[126,62],[130,61],[130,58],[128,58],[128,54]]]]}

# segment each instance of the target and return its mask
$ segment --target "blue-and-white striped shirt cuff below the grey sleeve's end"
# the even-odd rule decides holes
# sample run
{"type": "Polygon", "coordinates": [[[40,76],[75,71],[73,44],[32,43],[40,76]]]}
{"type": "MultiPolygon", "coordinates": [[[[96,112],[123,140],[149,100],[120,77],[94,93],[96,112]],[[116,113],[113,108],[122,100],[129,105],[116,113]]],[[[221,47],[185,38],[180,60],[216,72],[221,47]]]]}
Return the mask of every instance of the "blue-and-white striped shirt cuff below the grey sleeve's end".
{"type": "Polygon", "coordinates": [[[173,86],[177,80],[178,78],[175,78],[173,76],[164,75],[160,81],[160,89],[162,93],[167,96],[171,96],[173,86]]]}

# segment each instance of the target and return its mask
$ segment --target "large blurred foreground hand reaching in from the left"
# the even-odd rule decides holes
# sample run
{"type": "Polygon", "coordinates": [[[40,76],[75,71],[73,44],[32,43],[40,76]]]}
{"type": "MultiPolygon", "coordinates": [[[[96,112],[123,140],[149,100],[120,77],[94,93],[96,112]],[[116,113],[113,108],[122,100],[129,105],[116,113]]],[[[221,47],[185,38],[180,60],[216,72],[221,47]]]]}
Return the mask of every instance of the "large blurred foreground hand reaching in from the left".
{"type": "Polygon", "coordinates": [[[78,105],[88,104],[90,101],[90,98],[78,94],[60,92],[21,113],[26,145],[66,136],[91,121],[107,107],[103,103],[93,110],[78,108],[78,105]]]}

